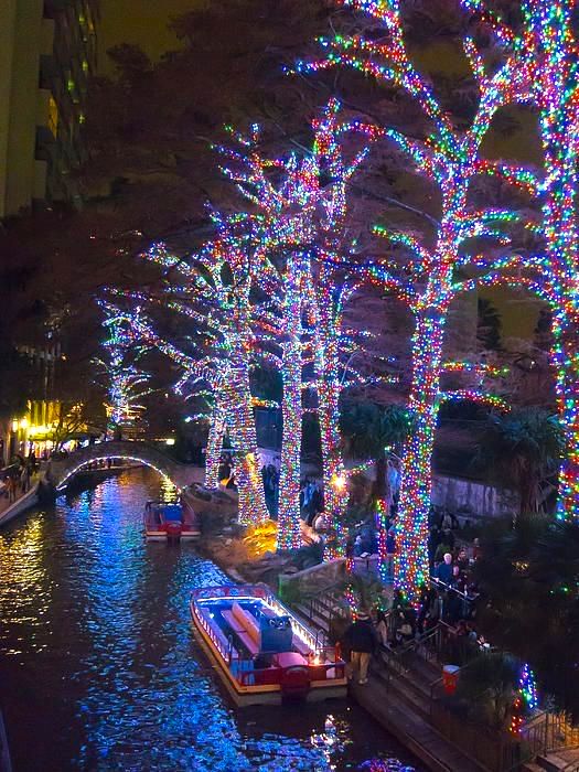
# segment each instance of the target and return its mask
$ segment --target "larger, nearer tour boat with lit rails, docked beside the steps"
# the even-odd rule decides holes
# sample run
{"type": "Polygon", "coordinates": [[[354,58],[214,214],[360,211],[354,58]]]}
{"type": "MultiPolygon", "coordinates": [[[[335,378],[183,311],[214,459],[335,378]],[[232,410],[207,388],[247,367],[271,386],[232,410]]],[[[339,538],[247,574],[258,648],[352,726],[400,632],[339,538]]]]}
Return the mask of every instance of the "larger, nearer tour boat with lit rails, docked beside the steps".
{"type": "Polygon", "coordinates": [[[202,647],[239,706],[345,697],[345,663],[265,585],[206,587],[191,596],[202,647]]]}

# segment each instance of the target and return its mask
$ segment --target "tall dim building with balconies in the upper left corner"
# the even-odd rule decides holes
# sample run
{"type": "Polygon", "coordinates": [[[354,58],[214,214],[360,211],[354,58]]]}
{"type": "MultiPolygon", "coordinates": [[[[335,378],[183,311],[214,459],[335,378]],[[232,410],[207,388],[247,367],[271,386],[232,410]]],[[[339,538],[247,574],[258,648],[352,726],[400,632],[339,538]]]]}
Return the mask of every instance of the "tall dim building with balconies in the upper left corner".
{"type": "Polygon", "coordinates": [[[81,196],[98,0],[0,2],[0,218],[81,196]]]}

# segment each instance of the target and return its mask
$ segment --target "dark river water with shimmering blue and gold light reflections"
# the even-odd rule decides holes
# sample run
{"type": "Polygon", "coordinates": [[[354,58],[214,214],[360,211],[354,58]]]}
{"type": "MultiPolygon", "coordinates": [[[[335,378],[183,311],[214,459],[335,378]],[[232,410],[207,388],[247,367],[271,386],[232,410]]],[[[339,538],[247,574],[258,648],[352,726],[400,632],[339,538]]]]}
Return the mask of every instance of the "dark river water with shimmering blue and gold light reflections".
{"type": "Polygon", "coordinates": [[[133,471],[0,532],[0,705],[15,772],[418,769],[344,701],[237,711],[199,648],[189,591],[224,575],[146,545],[133,471]],[[367,768],[366,768],[367,769],[367,768]]]}

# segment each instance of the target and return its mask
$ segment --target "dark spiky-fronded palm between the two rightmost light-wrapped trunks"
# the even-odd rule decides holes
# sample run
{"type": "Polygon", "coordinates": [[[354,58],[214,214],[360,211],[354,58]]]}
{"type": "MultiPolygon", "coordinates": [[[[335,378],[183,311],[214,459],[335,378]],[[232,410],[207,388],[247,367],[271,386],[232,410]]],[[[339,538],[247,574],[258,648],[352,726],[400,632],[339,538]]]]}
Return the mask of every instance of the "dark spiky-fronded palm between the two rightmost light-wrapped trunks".
{"type": "Polygon", "coordinates": [[[514,487],[521,514],[537,513],[540,484],[558,469],[564,435],[556,416],[542,408],[521,408],[489,417],[474,464],[491,482],[514,487]]]}

